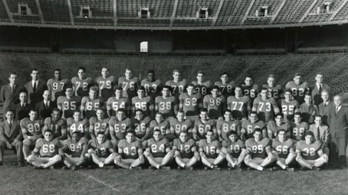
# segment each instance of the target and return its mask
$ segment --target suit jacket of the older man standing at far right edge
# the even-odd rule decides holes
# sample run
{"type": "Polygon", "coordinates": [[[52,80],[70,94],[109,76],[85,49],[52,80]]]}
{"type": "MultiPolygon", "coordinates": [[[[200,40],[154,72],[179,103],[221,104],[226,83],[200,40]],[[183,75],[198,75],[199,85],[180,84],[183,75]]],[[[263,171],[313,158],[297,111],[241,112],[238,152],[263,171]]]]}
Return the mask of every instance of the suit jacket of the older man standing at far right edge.
{"type": "Polygon", "coordinates": [[[348,108],[342,106],[337,113],[336,106],[330,108],[327,123],[329,123],[329,133],[332,138],[344,138],[348,130],[348,108]]]}

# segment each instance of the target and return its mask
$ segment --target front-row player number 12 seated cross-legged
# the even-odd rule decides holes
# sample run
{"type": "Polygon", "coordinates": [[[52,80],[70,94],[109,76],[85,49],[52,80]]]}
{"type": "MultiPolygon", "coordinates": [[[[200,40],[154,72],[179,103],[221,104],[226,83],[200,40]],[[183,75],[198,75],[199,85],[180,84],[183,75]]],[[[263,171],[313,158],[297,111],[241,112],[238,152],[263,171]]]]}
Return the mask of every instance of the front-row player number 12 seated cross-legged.
{"type": "Polygon", "coordinates": [[[173,141],[172,149],[178,169],[193,170],[193,166],[201,159],[197,152],[196,141],[189,139],[186,131],[179,133],[179,138],[173,141]]]}

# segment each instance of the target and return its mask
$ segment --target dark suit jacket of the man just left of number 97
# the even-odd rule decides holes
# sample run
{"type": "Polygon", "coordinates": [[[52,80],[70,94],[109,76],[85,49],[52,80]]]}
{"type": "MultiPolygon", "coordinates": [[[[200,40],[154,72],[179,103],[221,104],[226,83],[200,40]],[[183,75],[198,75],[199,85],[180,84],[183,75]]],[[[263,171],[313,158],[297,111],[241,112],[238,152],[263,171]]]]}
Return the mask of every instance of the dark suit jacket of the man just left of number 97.
{"type": "Polygon", "coordinates": [[[35,105],[39,101],[43,100],[43,91],[47,89],[47,84],[43,80],[38,80],[38,86],[36,87],[36,91],[33,91],[33,83],[30,81],[24,85],[26,91],[28,91],[28,103],[31,105],[35,105]]]}

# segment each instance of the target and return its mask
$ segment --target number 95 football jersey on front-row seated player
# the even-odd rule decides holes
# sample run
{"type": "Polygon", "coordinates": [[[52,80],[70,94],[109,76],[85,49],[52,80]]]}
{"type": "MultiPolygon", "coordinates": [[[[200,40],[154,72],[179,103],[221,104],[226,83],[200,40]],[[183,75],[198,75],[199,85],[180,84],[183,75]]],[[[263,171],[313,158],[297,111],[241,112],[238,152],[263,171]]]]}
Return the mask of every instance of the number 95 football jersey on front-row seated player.
{"type": "Polygon", "coordinates": [[[246,148],[250,151],[251,157],[260,157],[265,159],[267,157],[266,147],[270,146],[270,140],[268,138],[263,138],[258,142],[254,138],[246,140],[246,148]]]}

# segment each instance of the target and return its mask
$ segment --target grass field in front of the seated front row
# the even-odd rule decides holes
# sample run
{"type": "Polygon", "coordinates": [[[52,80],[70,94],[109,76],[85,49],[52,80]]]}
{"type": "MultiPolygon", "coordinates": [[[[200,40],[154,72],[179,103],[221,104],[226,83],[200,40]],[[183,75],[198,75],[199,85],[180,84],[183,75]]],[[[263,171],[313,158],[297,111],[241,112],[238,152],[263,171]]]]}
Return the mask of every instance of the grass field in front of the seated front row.
{"type": "Polygon", "coordinates": [[[348,194],[348,169],[297,172],[0,167],[0,194],[348,194]]]}

